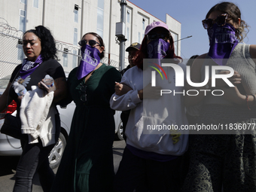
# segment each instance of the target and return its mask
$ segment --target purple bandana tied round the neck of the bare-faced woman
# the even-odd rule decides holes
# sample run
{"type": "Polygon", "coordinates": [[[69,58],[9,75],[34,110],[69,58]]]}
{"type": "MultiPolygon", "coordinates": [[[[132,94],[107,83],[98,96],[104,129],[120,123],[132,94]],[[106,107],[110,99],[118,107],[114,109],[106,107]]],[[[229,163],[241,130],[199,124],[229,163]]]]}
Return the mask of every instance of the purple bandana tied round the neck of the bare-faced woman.
{"type": "Polygon", "coordinates": [[[23,59],[23,64],[20,69],[20,77],[26,79],[27,76],[31,75],[35,69],[44,61],[41,55],[35,59],[35,62],[29,61],[28,59],[23,59]]]}

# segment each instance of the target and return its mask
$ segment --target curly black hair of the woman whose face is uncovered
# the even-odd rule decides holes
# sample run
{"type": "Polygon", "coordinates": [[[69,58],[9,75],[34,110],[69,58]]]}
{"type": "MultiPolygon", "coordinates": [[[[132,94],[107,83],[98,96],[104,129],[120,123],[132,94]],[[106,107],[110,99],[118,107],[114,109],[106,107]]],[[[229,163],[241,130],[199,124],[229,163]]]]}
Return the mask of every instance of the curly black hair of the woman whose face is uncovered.
{"type": "Polygon", "coordinates": [[[41,41],[41,56],[44,58],[44,61],[48,59],[58,59],[56,43],[51,35],[50,30],[44,26],[36,26],[35,29],[30,29],[24,33],[32,32],[38,36],[41,41]]]}

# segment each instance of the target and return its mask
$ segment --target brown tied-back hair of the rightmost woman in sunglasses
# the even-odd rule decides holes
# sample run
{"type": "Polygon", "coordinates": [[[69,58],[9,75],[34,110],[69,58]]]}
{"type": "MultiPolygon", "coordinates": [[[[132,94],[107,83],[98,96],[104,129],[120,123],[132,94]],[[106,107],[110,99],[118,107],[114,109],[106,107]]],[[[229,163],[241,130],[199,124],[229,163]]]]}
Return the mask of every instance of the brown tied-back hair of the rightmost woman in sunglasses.
{"type": "Polygon", "coordinates": [[[242,20],[241,11],[235,4],[231,2],[221,2],[216,4],[208,11],[206,19],[208,19],[209,15],[212,14],[213,11],[220,11],[223,14],[228,14],[234,23],[238,23],[238,19],[240,18],[240,26],[236,29],[236,38],[241,42],[246,37],[248,33],[247,31],[249,31],[248,25],[244,20],[242,20]]]}

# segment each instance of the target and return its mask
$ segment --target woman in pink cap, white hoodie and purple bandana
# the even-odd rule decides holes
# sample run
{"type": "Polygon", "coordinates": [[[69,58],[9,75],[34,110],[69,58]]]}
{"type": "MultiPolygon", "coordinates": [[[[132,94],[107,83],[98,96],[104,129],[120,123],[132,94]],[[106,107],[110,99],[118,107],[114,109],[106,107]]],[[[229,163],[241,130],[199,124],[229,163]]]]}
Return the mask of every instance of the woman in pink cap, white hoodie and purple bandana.
{"type": "MultiPolygon", "coordinates": [[[[134,61],[136,66],[124,73],[120,82],[122,89],[116,89],[110,100],[114,110],[130,110],[126,148],[117,170],[114,191],[178,191],[182,183],[181,156],[187,151],[188,136],[176,135],[178,139],[174,141],[169,130],[145,133],[145,125],[156,125],[160,121],[169,125],[171,122],[187,124],[183,99],[181,95],[160,98],[159,86],[151,87],[151,83],[143,85],[143,77],[151,74],[152,69],[144,66],[143,59],[150,59],[158,66],[164,60],[175,59],[172,61],[185,69],[180,62],[181,57],[175,55],[173,38],[166,23],[157,21],[148,25],[134,61]]],[[[155,66],[154,63],[152,65],[155,66]]],[[[165,67],[162,69],[169,80],[162,80],[158,74],[157,83],[163,82],[168,86],[166,89],[173,89],[174,71],[165,67]]],[[[182,89],[179,87],[177,91],[182,89]]]]}

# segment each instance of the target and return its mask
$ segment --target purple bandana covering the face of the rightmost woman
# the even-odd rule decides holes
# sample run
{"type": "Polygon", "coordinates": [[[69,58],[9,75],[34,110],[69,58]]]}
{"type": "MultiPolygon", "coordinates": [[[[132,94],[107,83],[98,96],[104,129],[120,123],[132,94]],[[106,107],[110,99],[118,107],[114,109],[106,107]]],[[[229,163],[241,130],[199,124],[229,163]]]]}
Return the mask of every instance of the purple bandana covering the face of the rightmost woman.
{"type": "Polygon", "coordinates": [[[208,55],[219,65],[226,66],[227,59],[238,44],[236,29],[230,24],[218,26],[214,24],[207,30],[210,41],[208,55]]]}

